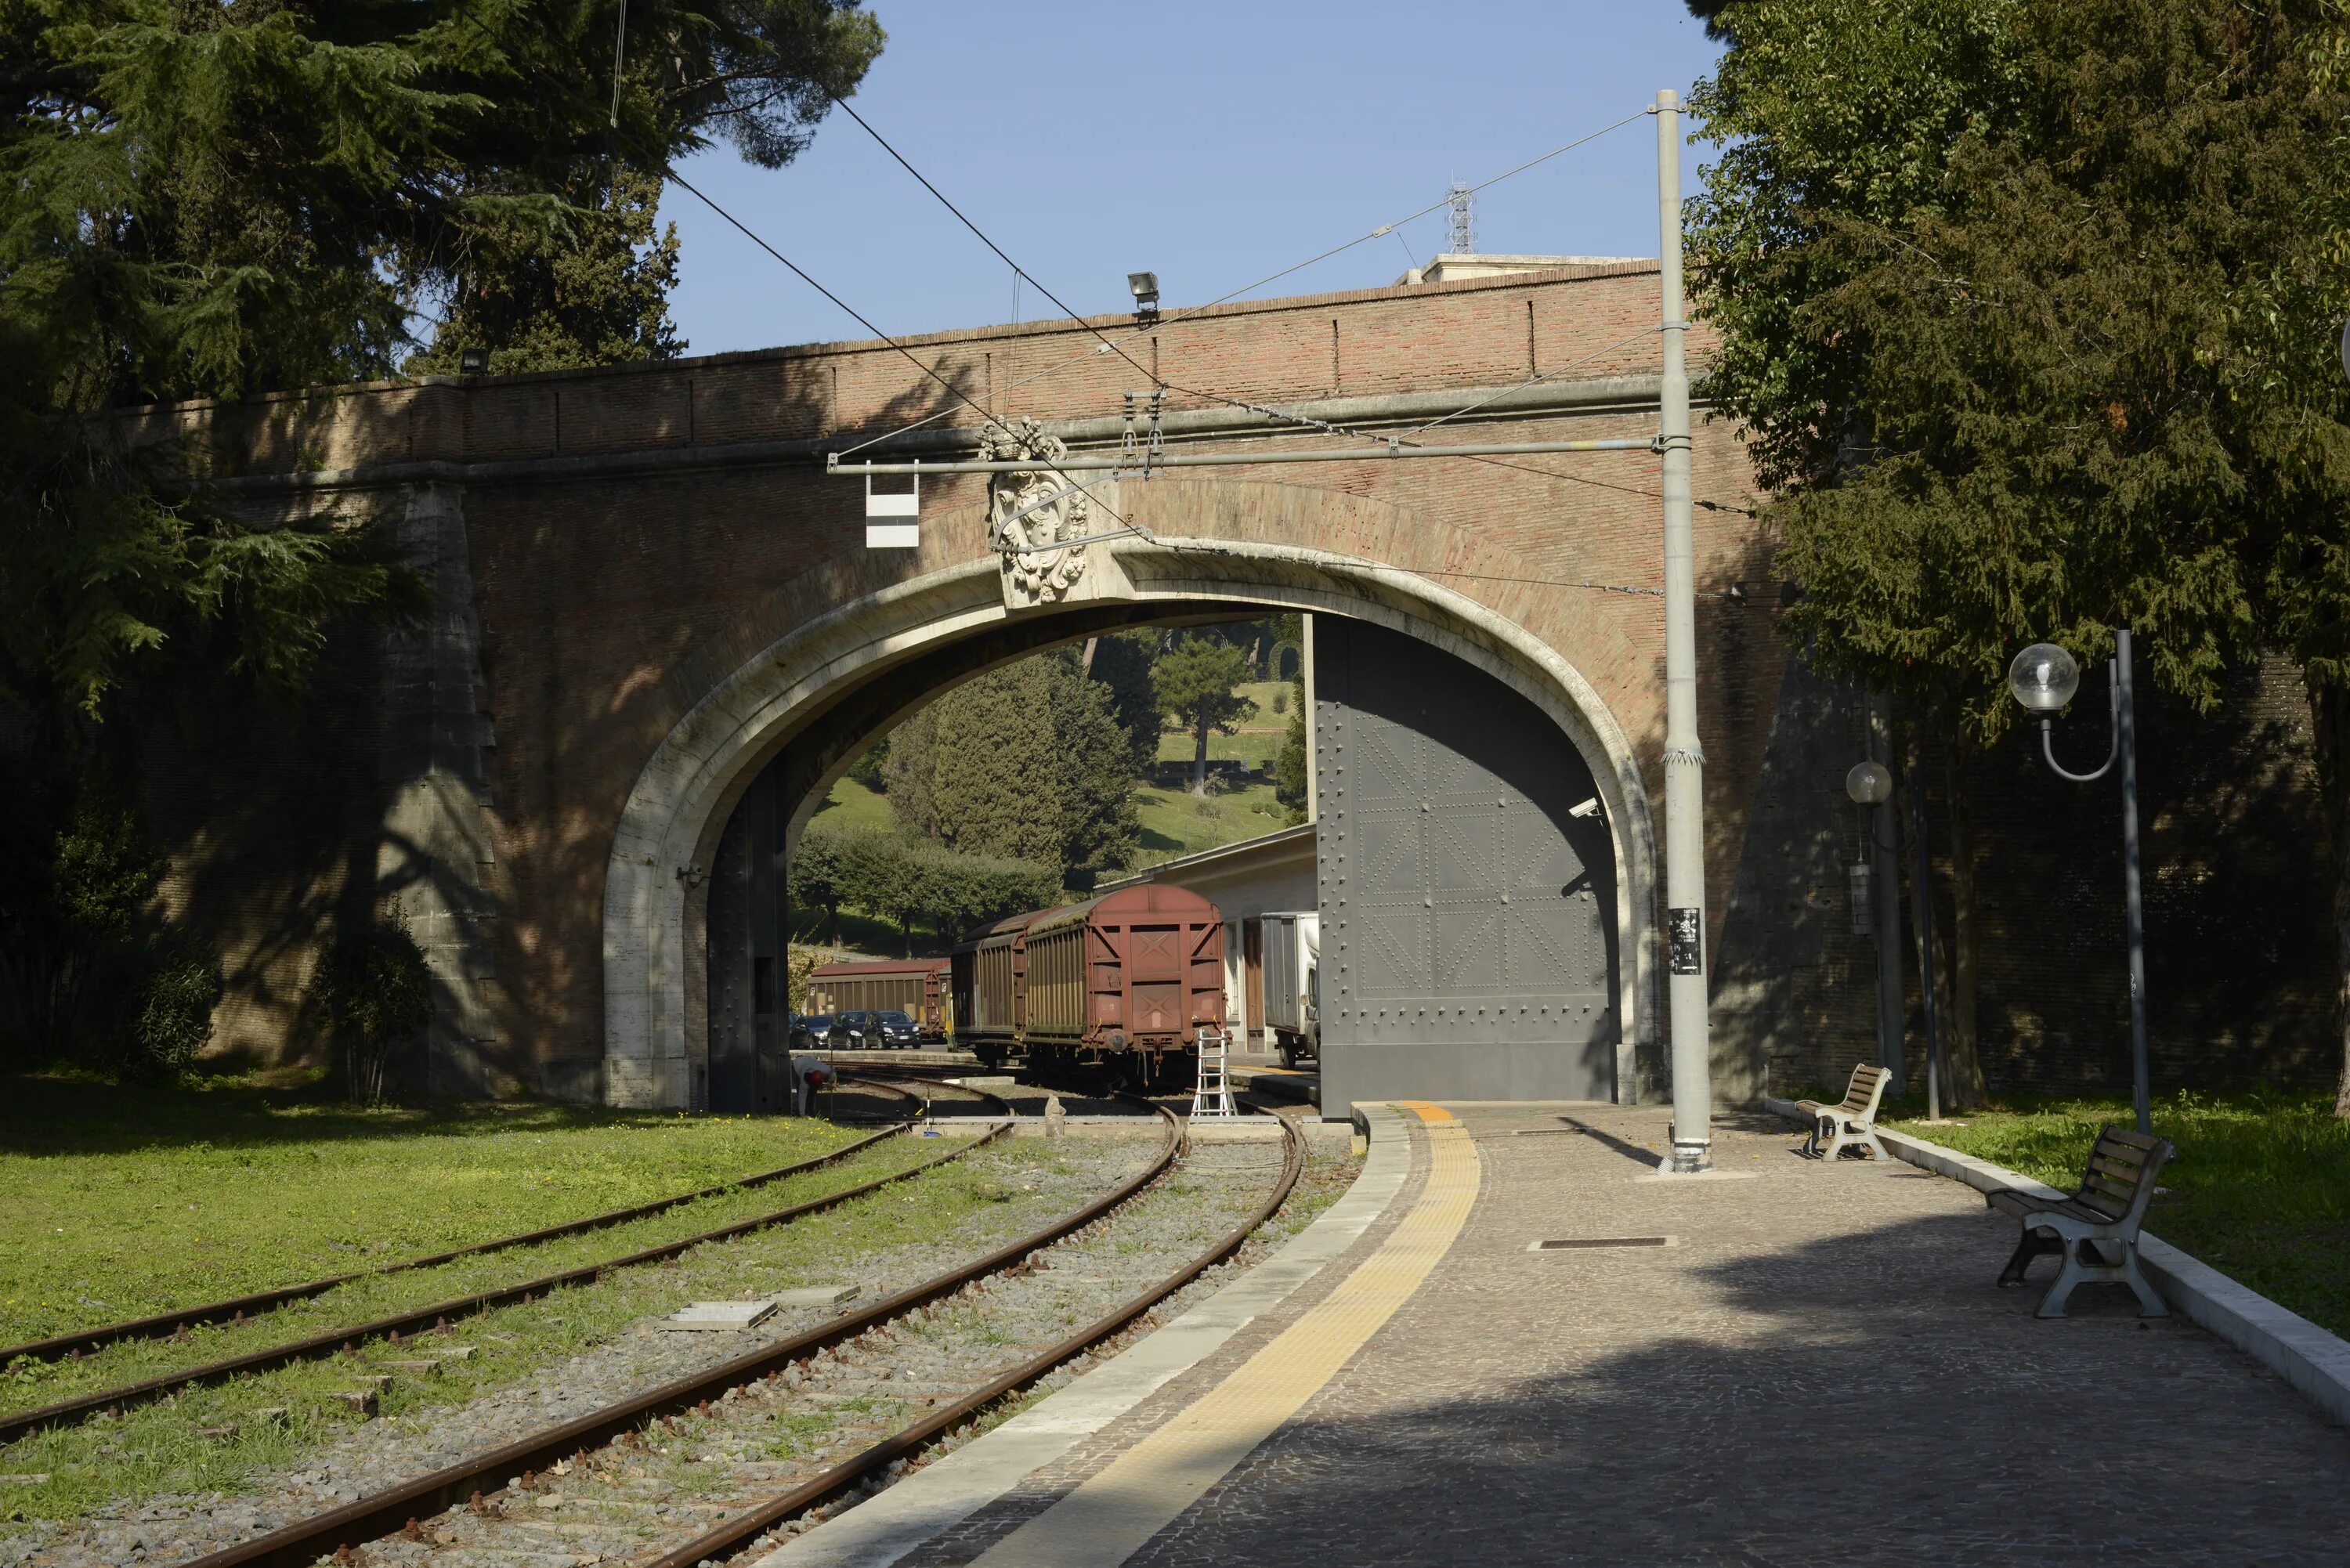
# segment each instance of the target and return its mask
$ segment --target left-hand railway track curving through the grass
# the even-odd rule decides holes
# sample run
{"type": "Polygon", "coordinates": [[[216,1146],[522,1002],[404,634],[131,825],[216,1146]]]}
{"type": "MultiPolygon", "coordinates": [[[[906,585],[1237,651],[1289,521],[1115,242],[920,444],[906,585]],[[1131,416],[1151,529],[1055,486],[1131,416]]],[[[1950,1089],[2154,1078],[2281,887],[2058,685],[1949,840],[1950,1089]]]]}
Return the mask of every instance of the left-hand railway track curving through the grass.
{"type": "MultiPolygon", "coordinates": [[[[916,1100],[919,1103],[919,1095],[914,1095],[909,1091],[900,1091],[895,1086],[881,1086],[881,1088],[886,1088],[888,1093],[902,1093],[907,1100],[916,1100]]],[[[959,1086],[942,1084],[942,1081],[940,1081],[940,1088],[961,1091],[959,1086]]],[[[454,1295],[449,1300],[428,1302],[423,1307],[414,1307],[414,1309],[407,1309],[407,1312],[381,1316],[381,1319],[374,1319],[374,1321],[367,1321],[367,1324],[348,1324],[348,1326],[329,1328],[324,1333],[306,1335],[306,1338],[298,1338],[298,1340],[287,1340],[282,1345],[270,1345],[270,1347],[244,1352],[244,1354],[237,1354],[237,1356],[223,1356],[219,1361],[204,1361],[200,1366],[179,1368],[179,1371],[162,1373],[162,1375],[155,1375],[155,1378],[143,1378],[139,1382],[127,1382],[127,1385],[120,1385],[120,1387],[99,1389],[94,1394],[78,1394],[73,1399],[61,1399],[61,1401],[54,1401],[54,1403],[47,1403],[47,1406],[38,1406],[33,1410],[14,1410],[14,1413],[7,1413],[7,1415],[0,1415],[0,1443],[14,1443],[21,1436],[31,1436],[33,1432],[45,1432],[45,1429],[52,1429],[52,1427],[70,1427],[70,1425],[92,1420],[94,1415],[120,1413],[125,1408],[134,1408],[134,1406],[141,1406],[141,1403],[167,1399],[167,1396],[172,1396],[172,1394],[176,1394],[181,1389],[209,1387],[209,1385],[228,1382],[230,1378],[249,1378],[254,1373],[275,1371],[280,1366],[294,1366],[296,1361],[322,1361],[327,1356],[352,1352],[360,1345],[367,1345],[371,1340],[402,1340],[402,1338],[409,1338],[409,1335],[428,1333],[428,1331],[435,1331],[435,1328],[444,1328],[444,1326],[449,1326],[449,1324],[454,1324],[458,1319],[475,1316],[479,1312],[489,1312],[494,1307],[510,1307],[515,1302],[536,1300],[540,1295],[548,1295],[552,1291],[562,1291],[566,1286],[592,1284],[592,1281],[597,1281],[604,1274],[611,1274],[616,1269],[642,1267],[642,1265],[649,1265],[649,1262],[665,1262],[667,1258],[677,1258],[679,1253],[686,1253],[686,1251],[691,1251],[696,1246],[705,1246],[710,1241],[726,1241],[728,1237],[743,1237],[743,1234],[750,1234],[754,1229],[768,1229],[773,1225],[790,1225],[792,1220],[806,1218],[811,1213],[822,1213],[827,1208],[839,1208],[841,1204],[855,1201],[855,1199],[860,1199],[860,1197],[865,1197],[870,1192],[877,1192],[881,1187],[902,1182],[907,1178],[921,1175],[924,1171],[935,1171],[938,1166],[945,1166],[949,1161],[964,1159],[973,1150],[978,1150],[982,1145],[989,1145],[989,1143],[994,1143],[996,1138],[1001,1138],[1003,1133],[1010,1131],[1010,1119],[1008,1119],[1010,1117],[1010,1105],[1006,1100],[1001,1100],[999,1095],[989,1095],[985,1091],[978,1091],[978,1088],[961,1091],[961,1093],[971,1093],[971,1095],[980,1098],[982,1103],[994,1105],[996,1112],[1006,1117],[1003,1126],[999,1126],[999,1128],[994,1128],[989,1133],[982,1133],[980,1138],[973,1138],[966,1145],[959,1145],[954,1150],[945,1150],[942,1154],[938,1154],[933,1159],[926,1159],[926,1161],[921,1161],[916,1166],[909,1166],[905,1171],[893,1171],[888,1175],[879,1175],[874,1180],[858,1182],[858,1185],[844,1187],[839,1192],[827,1192],[822,1197],[806,1199],[801,1204],[787,1204],[783,1208],[773,1208],[768,1213],[750,1215],[745,1220],[733,1220],[728,1225],[703,1229],[703,1232],[696,1232],[691,1237],[679,1237],[674,1241],[663,1241],[658,1246],[639,1248],[639,1251],[625,1253],[620,1258],[602,1258],[597,1262],[585,1262],[585,1265],[578,1265],[578,1267],[557,1269],[552,1274],[540,1274],[536,1279],[524,1279],[519,1284],[498,1286],[498,1288],[491,1288],[491,1291],[472,1291],[468,1295],[454,1295]]],[[[797,1166],[783,1166],[780,1171],[766,1171],[761,1175],[754,1175],[754,1178],[747,1178],[747,1180],[740,1180],[740,1182],[721,1182],[719,1187],[705,1187],[700,1192],[682,1194],[682,1197],[674,1197],[674,1199],[658,1199],[656,1204],[642,1204],[642,1206],[630,1208],[630,1211],[611,1211],[611,1213],[604,1213],[604,1215],[592,1215],[590,1220],[573,1220],[571,1225],[557,1225],[557,1227],[550,1227],[550,1229],[543,1229],[543,1232],[531,1232],[531,1234],[524,1234],[524,1237],[505,1237],[505,1239],[498,1239],[498,1241],[484,1241],[484,1244],[477,1244],[477,1246],[470,1246],[470,1248],[458,1248],[454,1253],[442,1253],[442,1255],[435,1255],[435,1258],[409,1260],[409,1262],[402,1262],[402,1265],[388,1265],[383,1269],[367,1269],[362,1274],[345,1274],[343,1279],[324,1281],[315,1291],[310,1286],[291,1286],[287,1291],[277,1291],[277,1293],[270,1293],[270,1295],[277,1298],[275,1305],[284,1305],[284,1302],[291,1302],[291,1300],[306,1300],[306,1298],[322,1295],[327,1288],[334,1288],[336,1284],[350,1284],[352,1279],[367,1279],[371,1274],[397,1274],[397,1272],[407,1272],[407,1269],[430,1267],[435,1262],[451,1262],[456,1258],[468,1258],[468,1255],[477,1255],[477,1253],[486,1253],[486,1251],[501,1251],[501,1248],[510,1248],[510,1246],[524,1246],[529,1241],[548,1241],[548,1239],[555,1239],[555,1237],[580,1234],[580,1232],[599,1229],[599,1227],[606,1227],[606,1225],[620,1225],[620,1222],[627,1222],[627,1220],[634,1220],[634,1218],[644,1218],[644,1215],[651,1215],[651,1213],[663,1213],[665,1208],[677,1208],[679,1204],[686,1204],[686,1201],[693,1201],[693,1199],[700,1199],[700,1197],[714,1197],[714,1194],[736,1192],[736,1190],[743,1190],[743,1187],[759,1187],[759,1185],[768,1185],[768,1182],[783,1180],[787,1175],[799,1175],[804,1171],[815,1171],[820,1166],[837,1164],[846,1154],[867,1150],[867,1147],[881,1143],[884,1138],[895,1138],[905,1126],[907,1126],[907,1121],[893,1121],[888,1128],[884,1128],[884,1131],[879,1131],[879,1133],[874,1133],[870,1138],[860,1138],[860,1140],[855,1140],[851,1145],[844,1145],[841,1150],[834,1150],[832,1154],[822,1154],[818,1159],[808,1159],[808,1161],[801,1161],[797,1166]],[[296,1293],[306,1293],[306,1295],[296,1295],[296,1293]]],[[[212,1312],[212,1307],[195,1307],[195,1309],[190,1309],[190,1314],[195,1314],[195,1312],[212,1312]]],[[[153,1324],[153,1321],[157,1321],[157,1319],[139,1319],[139,1324],[125,1324],[122,1328],[139,1328],[143,1324],[153,1324]]],[[[221,1319],[207,1319],[207,1321],[221,1321],[221,1319]]],[[[96,1331],[92,1331],[92,1333],[96,1333],[96,1331]]],[[[120,1338],[150,1338],[150,1335],[139,1333],[139,1335],[120,1335],[120,1338]]],[[[115,1340],[106,1340],[106,1342],[115,1342],[115,1340]]],[[[0,1359],[0,1366],[5,1366],[5,1359],[0,1359]]]]}

